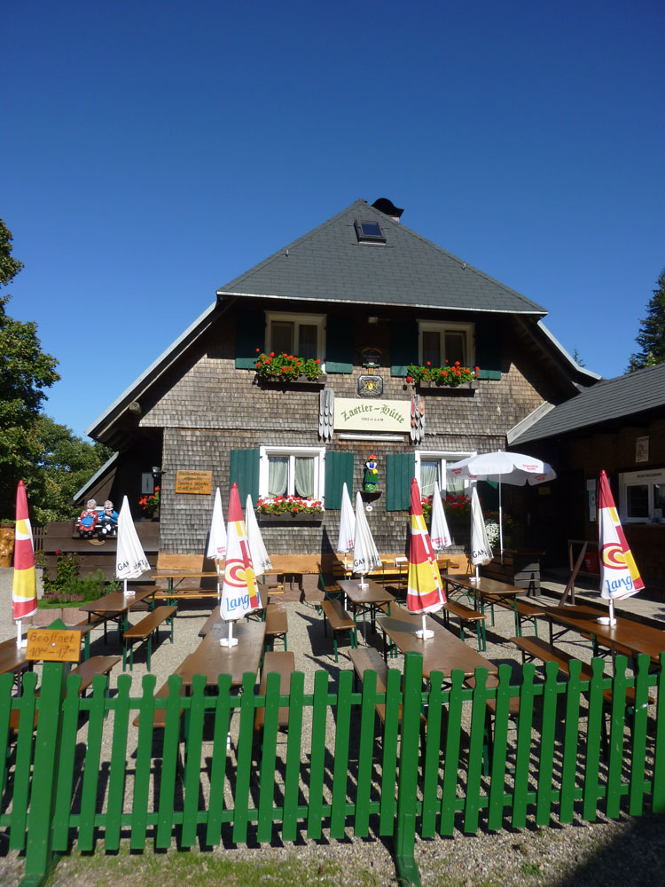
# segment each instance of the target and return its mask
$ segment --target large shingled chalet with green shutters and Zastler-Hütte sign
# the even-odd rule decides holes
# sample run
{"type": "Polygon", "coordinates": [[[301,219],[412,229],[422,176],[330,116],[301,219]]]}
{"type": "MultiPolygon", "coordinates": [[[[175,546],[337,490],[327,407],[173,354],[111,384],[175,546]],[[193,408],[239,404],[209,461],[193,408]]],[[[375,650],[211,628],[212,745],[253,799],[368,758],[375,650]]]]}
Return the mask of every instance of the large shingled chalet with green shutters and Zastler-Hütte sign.
{"type": "Polygon", "coordinates": [[[342,483],[355,497],[373,457],[372,533],[379,551],[401,551],[414,474],[427,491],[446,462],[507,448],[535,411],[598,381],[548,333],[543,308],[411,231],[402,212],[356,200],[221,287],[88,429],[117,455],[81,501],[126,494],[138,520],[158,478],[160,551],[203,553],[216,486],[224,514],[232,481],[243,505],[272,487],[325,510],[262,519],[268,550],[331,553],[342,483]],[[258,355],[283,351],[319,360],[322,374],[260,378],[258,355]],[[471,367],[473,381],[409,381],[409,365],[446,360],[471,367]]]}

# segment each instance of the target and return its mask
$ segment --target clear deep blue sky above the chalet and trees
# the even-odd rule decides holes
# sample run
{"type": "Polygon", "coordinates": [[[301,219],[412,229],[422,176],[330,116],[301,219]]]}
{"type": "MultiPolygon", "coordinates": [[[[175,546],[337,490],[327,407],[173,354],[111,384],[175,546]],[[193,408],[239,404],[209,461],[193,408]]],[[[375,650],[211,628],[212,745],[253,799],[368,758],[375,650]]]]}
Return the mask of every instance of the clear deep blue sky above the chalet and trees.
{"type": "MultiPolygon", "coordinates": [[[[0,216],[84,435],[215,291],[358,198],[624,372],[665,266],[661,0],[5,0],[0,216]]],[[[3,291],[6,293],[6,291],[3,291]]]]}

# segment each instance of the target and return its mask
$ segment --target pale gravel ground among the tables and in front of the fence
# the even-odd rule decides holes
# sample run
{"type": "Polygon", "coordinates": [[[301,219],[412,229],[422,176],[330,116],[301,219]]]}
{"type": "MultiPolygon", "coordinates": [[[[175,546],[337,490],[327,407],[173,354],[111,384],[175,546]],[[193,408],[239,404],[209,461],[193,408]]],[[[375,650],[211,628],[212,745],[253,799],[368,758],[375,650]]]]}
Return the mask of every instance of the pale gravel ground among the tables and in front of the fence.
{"type": "MultiPolygon", "coordinates": [[[[0,640],[14,633],[8,600],[11,592],[11,570],[0,570],[0,640]]],[[[332,678],[340,668],[350,667],[340,645],[340,663],[334,662],[332,642],[323,634],[321,616],[313,602],[289,601],[286,604],[289,618],[289,649],[296,657],[296,668],[304,671],[307,689],[313,687],[315,667],[325,668],[332,678]]],[[[209,607],[187,608],[176,620],[176,637],[172,645],[166,632],[162,632],[159,648],[153,651],[153,673],[158,687],[167,678],[184,655],[199,642],[201,624],[210,613],[209,607]]],[[[134,620],[137,621],[137,620],[134,620]]],[[[504,610],[497,611],[497,625],[488,635],[487,657],[491,660],[518,662],[515,650],[507,639],[512,636],[512,616],[504,610]]],[[[92,655],[109,655],[119,649],[112,642],[106,646],[101,632],[94,632],[92,655]]],[[[370,638],[372,641],[372,638],[370,638]]],[[[473,640],[470,643],[474,643],[473,640]]],[[[582,645],[568,645],[575,655],[588,658],[588,649],[582,645]]],[[[121,673],[121,665],[112,672],[111,684],[121,673]]],[[[140,684],[146,673],[145,654],[137,650],[134,680],[140,684]]],[[[435,838],[417,841],[416,860],[423,885],[490,885],[542,884],[554,885],[603,884],[604,887],[625,887],[627,884],[665,884],[665,819],[659,816],[630,819],[623,816],[618,821],[599,820],[589,824],[582,821],[572,826],[536,828],[531,822],[528,828],[514,831],[506,828],[499,833],[489,833],[481,828],[475,836],[456,832],[454,838],[435,838]]],[[[309,842],[301,837],[294,845],[233,848],[227,844],[215,848],[212,856],[225,854],[237,860],[286,860],[293,852],[299,859],[312,860],[325,872],[329,862],[340,866],[340,878],[344,884],[359,883],[358,873],[372,873],[374,883],[397,884],[392,848],[379,840],[352,839],[350,830],[345,841],[309,842]]],[[[0,885],[18,885],[23,871],[23,860],[15,852],[6,851],[6,842],[0,837],[0,885]]],[[[132,857],[137,867],[134,875],[123,875],[115,883],[132,884],[144,880],[141,873],[142,858],[132,857]]],[[[61,860],[56,869],[54,884],[92,883],[90,874],[80,880],[71,877],[72,860],[61,860]]],[[[101,863],[100,863],[101,867],[101,863]]],[[[165,865],[163,887],[168,887],[168,865],[165,865]]],[[[105,883],[105,882],[99,882],[105,883]]]]}

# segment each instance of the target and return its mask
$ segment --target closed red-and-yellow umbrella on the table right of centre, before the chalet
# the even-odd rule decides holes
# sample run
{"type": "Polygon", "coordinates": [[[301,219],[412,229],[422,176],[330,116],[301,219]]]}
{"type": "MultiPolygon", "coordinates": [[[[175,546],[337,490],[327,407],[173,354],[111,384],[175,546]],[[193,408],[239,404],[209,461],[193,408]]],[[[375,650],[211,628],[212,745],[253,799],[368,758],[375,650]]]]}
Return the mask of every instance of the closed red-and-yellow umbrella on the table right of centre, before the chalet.
{"type": "MultiPolygon", "coordinates": [[[[435,494],[438,492],[435,491],[435,494]]],[[[409,541],[409,580],[406,606],[411,613],[422,613],[423,627],[419,638],[434,637],[425,627],[425,614],[434,613],[446,602],[441,574],[427,532],[418,481],[411,481],[411,539],[409,541]]]]}

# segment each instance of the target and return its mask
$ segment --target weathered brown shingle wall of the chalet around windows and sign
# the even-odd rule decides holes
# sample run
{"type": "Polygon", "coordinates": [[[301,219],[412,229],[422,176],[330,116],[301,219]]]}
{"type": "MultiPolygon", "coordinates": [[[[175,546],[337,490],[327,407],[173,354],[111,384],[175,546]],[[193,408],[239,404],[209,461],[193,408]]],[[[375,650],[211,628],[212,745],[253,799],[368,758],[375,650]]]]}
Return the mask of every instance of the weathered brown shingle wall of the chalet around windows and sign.
{"type": "MultiPolygon", "coordinates": [[[[320,389],[259,387],[253,371],[235,369],[234,329],[233,318],[225,316],[197,349],[188,352],[187,362],[174,367],[159,389],[153,389],[152,403],[142,404],[141,426],[164,428],[160,512],[161,550],[164,552],[204,550],[215,486],[222,491],[224,514],[228,507],[231,450],[261,444],[322,445],[318,436],[320,389]],[[177,469],[212,471],[210,497],[176,496],[177,469]]],[[[355,324],[349,323],[349,334],[354,333],[356,347],[368,344],[387,349],[387,332],[383,325],[374,330],[358,317],[355,324]],[[382,339],[382,336],[386,338],[382,339]]],[[[344,442],[333,435],[332,441],[325,444],[327,449],[354,453],[354,491],[362,485],[365,460],[371,453],[378,457],[379,489],[383,494],[372,502],[372,513],[368,518],[379,550],[402,551],[407,545],[405,514],[386,511],[388,453],[416,448],[428,451],[504,448],[506,431],[553,394],[551,381],[541,375],[537,365],[529,368],[527,378],[524,357],[509,334],[505,334],[502,344],[505,372],[500,381],[481,380],[479,388],[473,392],[423,391],[426,436],[420,443],[411,443],[409,437],[403,443],[344,442]]],[[[257,347],[262,347],[262,332],[259,331],[257,347]]],[[[326,384],[334,389],[336,396],[356,397],[358,375],[365,372],[362,366],[355,365],[352,374],[331,374],[326,384]]],[[[384,399],[407,400],[411,397],[411,385],[403,379],[391,378],[389,367],[383,367],[377,373],[383,378],[384,399]]],[[[338,511],[326,513],[319,526],[299,526],[295,534],[293,528],[279,524],[262,526],[266,546],[274,553],[334,551],[338,530],[338,511]]]]}

